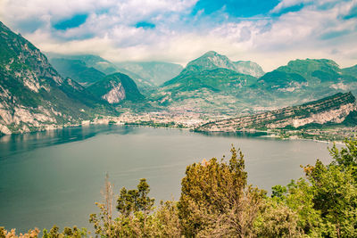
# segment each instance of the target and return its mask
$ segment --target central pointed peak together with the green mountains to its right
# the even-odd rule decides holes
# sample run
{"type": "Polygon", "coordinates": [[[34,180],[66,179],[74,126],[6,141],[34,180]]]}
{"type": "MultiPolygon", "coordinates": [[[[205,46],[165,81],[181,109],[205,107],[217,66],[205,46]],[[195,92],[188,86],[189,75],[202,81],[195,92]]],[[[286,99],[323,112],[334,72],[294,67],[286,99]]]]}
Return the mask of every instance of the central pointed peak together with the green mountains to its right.
{"type": "Polygon", "coordinates": [[[172,109],[237,114],[307,103],[338,92],[357,93],[357,66],[341,69],[331,60],[306,59],[263,74],[254,62],[245,62],[245,70],[237,65],[225,55],[205,53],[164,83],[154,101],[172,109]]]}

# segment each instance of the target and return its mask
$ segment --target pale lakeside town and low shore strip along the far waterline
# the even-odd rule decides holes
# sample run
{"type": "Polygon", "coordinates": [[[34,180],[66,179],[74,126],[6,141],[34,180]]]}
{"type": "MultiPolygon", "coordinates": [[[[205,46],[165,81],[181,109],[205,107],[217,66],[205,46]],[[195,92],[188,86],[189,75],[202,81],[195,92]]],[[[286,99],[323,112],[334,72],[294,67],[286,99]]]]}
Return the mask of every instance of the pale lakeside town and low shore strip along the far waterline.
{"type": "MultiPolygon", "coordinates": [[[[224,115],[208,115],[195,112],[170,113],[166,111],[154,111],[148,113],[130,113],[125,112],[119,117],[98,117],[93,120],[84,120],[81,126],[97,124],[115,124],[126,126],[144,126],[144,127],[170,127],[195,130],[195,127],[216,121],[228,119],[224,115]]],[[[296,129],[255,129],[241,128],[237,132],[244,133],[265,133],[267,137],[277,139],[309,139],[325,142],[342,142],[345,138],[356,138],[357,127],[326,127],[326,128],[296,128],[296,129]]]]}

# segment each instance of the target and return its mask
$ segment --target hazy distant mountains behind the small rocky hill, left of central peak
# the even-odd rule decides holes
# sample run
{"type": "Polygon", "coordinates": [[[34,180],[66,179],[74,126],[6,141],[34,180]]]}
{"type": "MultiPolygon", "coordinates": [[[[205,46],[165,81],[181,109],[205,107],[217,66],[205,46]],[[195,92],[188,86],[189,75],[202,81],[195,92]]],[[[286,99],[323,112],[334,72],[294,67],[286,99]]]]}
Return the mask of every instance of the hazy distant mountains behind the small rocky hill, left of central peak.
{"type": "Polygon", "coordinates": [[[49,61],[63,77],[73,78],[83,86],[120,72],[132,78],[140,91],[150,93],[163,82],[179,75],[181,65],[170,62],[117,62],[112,63],[92,54],[65,55],[46,53],[49,61]]]}

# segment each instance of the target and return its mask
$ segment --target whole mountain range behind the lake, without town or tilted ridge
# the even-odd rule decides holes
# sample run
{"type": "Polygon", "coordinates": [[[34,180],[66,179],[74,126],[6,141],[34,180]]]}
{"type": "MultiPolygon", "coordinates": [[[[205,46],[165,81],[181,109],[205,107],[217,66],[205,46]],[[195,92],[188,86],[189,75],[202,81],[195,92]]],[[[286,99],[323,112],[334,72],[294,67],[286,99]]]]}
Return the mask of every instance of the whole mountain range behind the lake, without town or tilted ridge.
{"type": "Polygon", "coordinates": [[[357,65],[341,69],[327,59],[295,60],[267,73],[255,62],[231,61],[212,51],[185,68],[113,63],[91,54],[46,53],[47,60],[1,22],[0,50],[2,134],[72,125],[127,107],[233,117],[357,93],[357,65]]]}

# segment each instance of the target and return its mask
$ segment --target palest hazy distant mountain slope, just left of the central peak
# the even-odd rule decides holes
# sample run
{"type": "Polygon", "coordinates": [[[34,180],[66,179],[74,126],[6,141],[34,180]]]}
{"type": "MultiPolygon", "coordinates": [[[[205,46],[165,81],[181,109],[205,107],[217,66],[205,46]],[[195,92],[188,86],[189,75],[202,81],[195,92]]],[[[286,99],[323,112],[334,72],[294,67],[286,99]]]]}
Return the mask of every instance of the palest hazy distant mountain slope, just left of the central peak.
{"type": "Polygon", "coordinates": [[[178,76],[183,70],[181,65],[170,62],[118,62],[116,65],[120,69],[129,70],[142,78],[149,79],[156,86],[178,76]]]}

